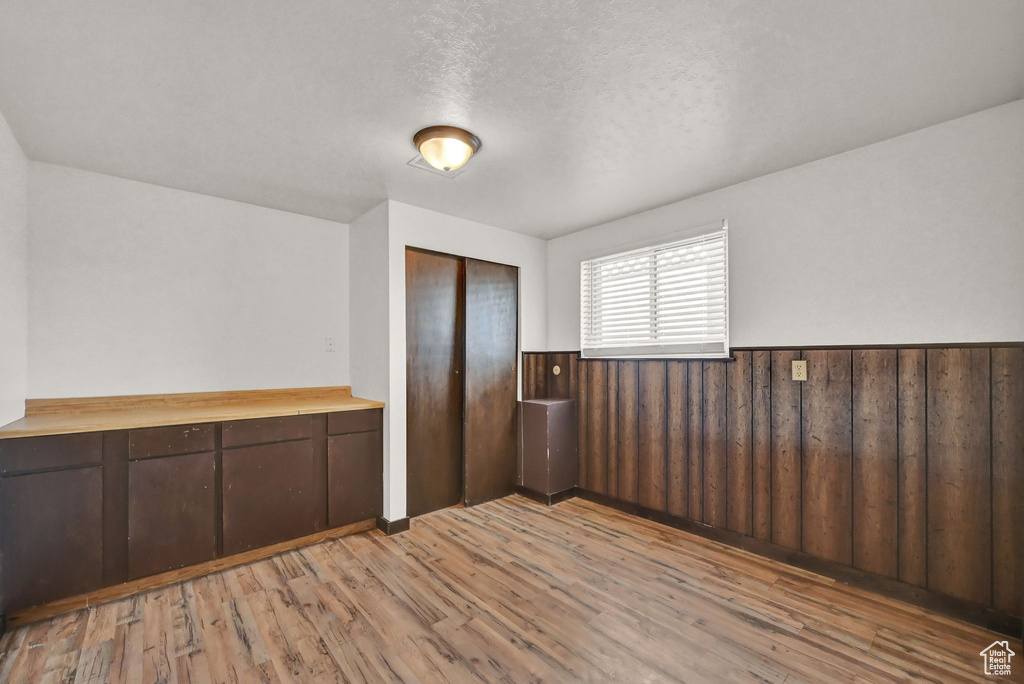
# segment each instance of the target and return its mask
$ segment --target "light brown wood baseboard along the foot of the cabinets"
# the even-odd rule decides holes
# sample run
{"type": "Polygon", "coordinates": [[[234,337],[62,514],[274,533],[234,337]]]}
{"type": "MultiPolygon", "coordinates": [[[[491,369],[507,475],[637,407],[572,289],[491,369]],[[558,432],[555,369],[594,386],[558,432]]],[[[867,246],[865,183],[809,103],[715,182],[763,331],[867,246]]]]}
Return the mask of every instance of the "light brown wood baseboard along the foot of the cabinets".
{"type": "Polygon", "coordinates": [[[168,572],[161,572],[160,574],[153,574],[147,578],[132,580],[131,582],[114,585],[113,587],[103,587],[102,589],[97,589],[87,594],[80,594],[79,596],[58,599],[50,603],[44,603],[43,605],[26,608],[25,610],[20,610],[10,615],[5,622],[5,626],[20,627],[22,625],[27,625],[29,623],[36,623],[41,619],[47,619],[63,613],[81,610],[82,608],[88,608],[99,603],[108,603],[110,601],[116,601],[128,596],[144,594],[145,592],[150,592],[155,589],[163,589],[164,587],[176,585],[181,582],[187,582],[188,580],[195,580],[196,578],[201,578],[205,574],[213,574],[214,572],[220,572],[232,567],[239,567],[240,565],[249,565],[250,563],[255,563],[256,561],[276,556],[288,551],[295,551],[296,549],[312,546],[313,544],[319,544],[321,542],[340,539],[350,535],[357,535],[359,532],[369,531],[373,528],[374,521],[373,518],[371,518],[361,522],[354,522],[350,525],[326,529],[322,532],[315,532],[299,539],[289,540],[272,546],[245,551],[243,553],[234,554],[233,556],[224,556],[223,558],[208,560],[197,565],[188,565],[176,570],[170,570],[168,572]]]}

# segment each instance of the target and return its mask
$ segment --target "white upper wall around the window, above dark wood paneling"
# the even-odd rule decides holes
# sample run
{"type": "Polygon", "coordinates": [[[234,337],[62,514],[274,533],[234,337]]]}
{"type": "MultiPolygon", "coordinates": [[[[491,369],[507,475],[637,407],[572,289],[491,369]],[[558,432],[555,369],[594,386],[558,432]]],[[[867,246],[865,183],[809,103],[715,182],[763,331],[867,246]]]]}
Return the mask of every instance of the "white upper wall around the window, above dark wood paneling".
{"type": "Polygon", "coordinates": [[[551,241],[547,348],[582,259],[723,218],[734,347],[1024,340],[1024,100],[551,241]]]}

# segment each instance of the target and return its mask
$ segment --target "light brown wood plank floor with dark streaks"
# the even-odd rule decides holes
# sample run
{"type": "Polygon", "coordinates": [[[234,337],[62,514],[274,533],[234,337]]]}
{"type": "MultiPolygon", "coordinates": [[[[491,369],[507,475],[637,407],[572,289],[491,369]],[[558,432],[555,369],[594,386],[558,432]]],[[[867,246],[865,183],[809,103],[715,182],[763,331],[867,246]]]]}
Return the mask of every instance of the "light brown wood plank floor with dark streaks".
{"type": "Polygon", "coordinates": [[[985,681],[996,638],[581,500],[510,497],[18,628],[0,681],[985,681]]]}

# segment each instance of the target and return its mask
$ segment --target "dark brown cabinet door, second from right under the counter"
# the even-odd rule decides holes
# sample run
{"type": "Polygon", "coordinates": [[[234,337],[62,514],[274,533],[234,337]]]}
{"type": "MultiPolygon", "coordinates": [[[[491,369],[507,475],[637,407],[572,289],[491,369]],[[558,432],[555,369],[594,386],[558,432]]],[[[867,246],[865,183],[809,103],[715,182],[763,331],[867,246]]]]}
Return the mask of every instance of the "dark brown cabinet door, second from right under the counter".
{"type": "Polygon", "coordinates": [[[224,555],[313,533],[313,464],[308,439],[224,450],[224,555]]]}

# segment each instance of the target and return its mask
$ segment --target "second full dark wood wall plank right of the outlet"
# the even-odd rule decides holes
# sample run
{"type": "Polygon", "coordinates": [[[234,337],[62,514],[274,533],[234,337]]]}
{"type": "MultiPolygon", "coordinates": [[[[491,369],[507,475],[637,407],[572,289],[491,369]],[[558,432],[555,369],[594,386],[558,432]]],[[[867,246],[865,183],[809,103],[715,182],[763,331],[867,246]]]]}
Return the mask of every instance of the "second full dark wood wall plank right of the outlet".
{"type": "Polygon", "coordinates": [[[853,352],[853,565],[899,575],[896,350],[853,352]]]}

